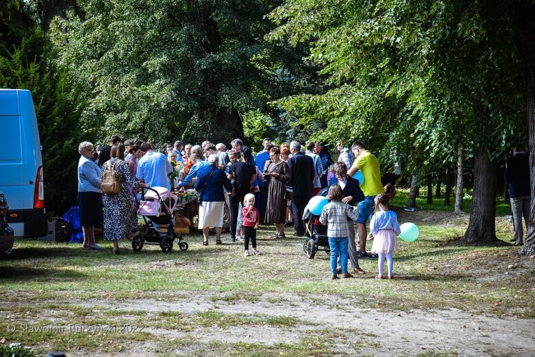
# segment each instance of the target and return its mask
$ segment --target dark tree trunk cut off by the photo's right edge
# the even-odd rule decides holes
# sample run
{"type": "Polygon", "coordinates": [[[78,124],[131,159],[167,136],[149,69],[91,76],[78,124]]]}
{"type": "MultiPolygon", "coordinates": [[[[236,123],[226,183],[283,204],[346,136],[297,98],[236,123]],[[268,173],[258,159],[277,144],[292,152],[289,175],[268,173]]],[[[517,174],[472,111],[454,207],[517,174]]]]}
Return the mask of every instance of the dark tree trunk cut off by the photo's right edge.
{"type": "Polygon", "coordinates": [[[519,49],[526,67],[527,121],[530,125],[530,172],[532,201],[530,205],[530,225],[527,227],[525,245],[519,254],[535,254],[535,3],[515,2],[513,16],[517,25],[519,49]]]}

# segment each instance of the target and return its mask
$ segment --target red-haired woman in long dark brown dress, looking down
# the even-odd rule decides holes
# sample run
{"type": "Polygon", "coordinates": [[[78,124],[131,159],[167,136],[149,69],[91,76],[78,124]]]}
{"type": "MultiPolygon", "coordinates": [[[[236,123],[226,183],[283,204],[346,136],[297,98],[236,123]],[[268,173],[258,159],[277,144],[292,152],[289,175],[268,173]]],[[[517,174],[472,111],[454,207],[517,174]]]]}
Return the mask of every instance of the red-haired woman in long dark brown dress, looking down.
{"type": "Polygon", "coordinates": [[[270,177],[267,194],[266,223],[275,223],[277,232],[270,238],[286,238],[284,222],[286,221],[286,206],[292,197],[286,193],[286,185],[291,181],[292,174],[288,164],[280,158],[278,147],[272,147],[264,169],[264,176],[270,177]]]}

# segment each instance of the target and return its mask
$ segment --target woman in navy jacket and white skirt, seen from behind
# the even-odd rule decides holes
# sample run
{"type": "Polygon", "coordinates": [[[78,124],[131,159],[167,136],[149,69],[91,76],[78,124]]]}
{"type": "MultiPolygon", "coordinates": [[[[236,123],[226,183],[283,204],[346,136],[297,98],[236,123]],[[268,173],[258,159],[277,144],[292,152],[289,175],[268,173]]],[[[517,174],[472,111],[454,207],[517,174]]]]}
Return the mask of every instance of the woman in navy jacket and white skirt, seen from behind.
{"type": "Polygon", "coordinates": [[[217,154],[208,157],[208,165],[197,171],[195,189],[199,191],[199,230],[203,230],[203,245],[208,245],[210,227],[216,229],[216,244],[221,241],[223,227],[223,210],[225,208],[225,191],[232,195],[232,184],[225,171],[218,167],[217,154]]]}

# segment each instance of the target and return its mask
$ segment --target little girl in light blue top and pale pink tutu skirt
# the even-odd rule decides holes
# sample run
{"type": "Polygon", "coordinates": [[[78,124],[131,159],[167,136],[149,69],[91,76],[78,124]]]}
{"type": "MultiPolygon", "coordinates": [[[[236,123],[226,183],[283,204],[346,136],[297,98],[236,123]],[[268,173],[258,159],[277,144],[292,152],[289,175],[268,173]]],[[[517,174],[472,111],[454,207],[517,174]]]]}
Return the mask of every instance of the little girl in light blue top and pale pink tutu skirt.
{"type": "Polygon", "coordinates": [[[397,236],[401,231],[397,223],[395,212],[388,210],[390,197],[382,193],[375,197],[375,211],[370,221],[370,232],[373,234],[372,253],[379,256],[379,274],[375,279],[384,279],[383,265],[384,259],[388,265],[388,279],[393,279],[394,258],[393,252],[397,249],[397,236]]]}

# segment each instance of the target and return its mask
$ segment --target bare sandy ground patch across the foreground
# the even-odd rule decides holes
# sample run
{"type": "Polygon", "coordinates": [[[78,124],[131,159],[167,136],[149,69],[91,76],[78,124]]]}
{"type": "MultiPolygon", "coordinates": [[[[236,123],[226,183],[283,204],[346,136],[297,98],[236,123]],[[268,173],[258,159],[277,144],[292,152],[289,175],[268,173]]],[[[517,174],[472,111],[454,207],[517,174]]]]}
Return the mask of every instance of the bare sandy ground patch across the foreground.
{"type": "MultiPolygon", "coordinates": [[[[535,355],[532,319],[500,319],[456,309],[384,312],[359,308],[358,301],[331,295],[314,295],[311,299],[308,295],[264,293],[254,295],[253,301],[247,296],[227,301],[228,294],[189,294],[177,292],[178,298],[172,301],[69,301],[68,304],[90,311],[112,311],[115,319],[123,321],[121,323],[131,311],[135,311],[136,316],[145,314],[142,319],[146,321],[173,314],[199,320],[199,323],[193,321],[191,330],[169,325],[145,327],[143,332],[158,336],[153,341],[148,338],[117,343],[108,346],[105,353],[71,351],[69,356],[214,356],[221,353],[221,345],[231,348],[240,343],[273,346],[273,352],[277,352],[277,345],[292,345],[306,338],[315,339],[317,343],[330,341],[328,355],[338,356],[416,356],[425,352],[460,356],[535,355]],[[216,313],[217,319],[201,321],[199,316],[207,312],[216,313]],[[251,318],[252,322],[227,322],[236,317],[251,318]],[[291,317],[293,323],[277,326],[267,317],[291,317]]],[[[40,312],[40,319],[58,323],[54,315],[53,310],[45,309],[40,312]]],[[[109,319],[110,324],[113,321],[114,318],[109,319]]],[[[147,322],[146,325],[151,324],[147,322]]],[[[232,350],[228,352],[232,355],[232,350]]],[[[276,354],[284,355],[285,349],[281,347],[276,354]]]]}

